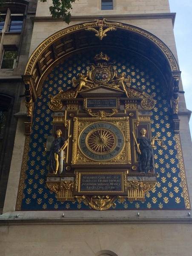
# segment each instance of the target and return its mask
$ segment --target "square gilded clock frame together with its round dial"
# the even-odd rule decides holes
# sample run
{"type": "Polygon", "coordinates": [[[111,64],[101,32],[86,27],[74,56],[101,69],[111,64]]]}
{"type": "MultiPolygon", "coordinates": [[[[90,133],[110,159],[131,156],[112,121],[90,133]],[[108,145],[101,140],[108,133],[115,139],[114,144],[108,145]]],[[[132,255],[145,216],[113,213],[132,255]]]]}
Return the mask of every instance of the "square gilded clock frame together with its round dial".
{"type": "Polygon", "coordinates": [[[129,119],[110,117],[75,118],[74,164],[109,164],[130,162],[129,119]],[[125,139],[126,138],[126,139],[125,139]]]}

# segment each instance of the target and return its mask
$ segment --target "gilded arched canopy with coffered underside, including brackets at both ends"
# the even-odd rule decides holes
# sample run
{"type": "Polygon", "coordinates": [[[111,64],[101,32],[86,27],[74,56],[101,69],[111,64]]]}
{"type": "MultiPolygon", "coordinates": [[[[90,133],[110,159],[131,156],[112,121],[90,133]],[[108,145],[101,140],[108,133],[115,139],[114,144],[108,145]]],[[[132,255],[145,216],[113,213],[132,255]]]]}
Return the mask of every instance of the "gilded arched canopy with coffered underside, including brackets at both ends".
{"type": "MultiPolygon", "coordinates": [[[[103,34],[102,34],[103,35],[103,34]]],[[[86,49],[121,49],[134,52],[150,60],[165,79],[167,95],[172,102],[175,131],[178,127],[178,93],[181,72],[175,56],[159,38],[152,33],[125,23],[104,18],[79,23],[54,33],[44,40],[32,53],[26,66],[23,81],[27,90],[28,116],[32,116],[33,102],[41,94],[41,81],[59,61],[86,49]],[[106,36],[99,36],[99,29],[106,36]],[[98,34],[95,34],[98,32],[98,34]],[[104,33],[105,34],[105,33],[104,33]]]]}

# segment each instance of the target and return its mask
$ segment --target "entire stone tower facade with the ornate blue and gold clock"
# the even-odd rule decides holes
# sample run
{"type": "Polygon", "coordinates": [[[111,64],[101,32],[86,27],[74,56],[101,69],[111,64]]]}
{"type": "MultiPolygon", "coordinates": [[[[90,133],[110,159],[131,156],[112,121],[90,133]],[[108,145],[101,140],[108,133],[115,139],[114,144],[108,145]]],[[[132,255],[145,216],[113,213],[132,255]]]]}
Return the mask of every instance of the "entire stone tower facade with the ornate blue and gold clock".
{"type": "Polygon", "coordinates": [[[190,111],[168,0],[79,0],[69,26],[51,3],[37,3],[18,64],[25,92],[0,250],[189,255],[190,111]]]}

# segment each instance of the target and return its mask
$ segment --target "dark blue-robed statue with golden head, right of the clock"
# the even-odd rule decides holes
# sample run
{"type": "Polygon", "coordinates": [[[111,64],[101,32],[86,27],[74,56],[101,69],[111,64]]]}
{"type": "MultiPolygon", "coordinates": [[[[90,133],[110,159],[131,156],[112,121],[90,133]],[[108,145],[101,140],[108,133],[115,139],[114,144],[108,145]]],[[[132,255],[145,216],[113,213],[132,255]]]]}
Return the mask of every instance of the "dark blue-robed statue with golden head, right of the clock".
{"type": "Polygon", "coordinates": [[[153,172],[153,154],[151,141],[145,136],[146,129],[140,130],[141,136],[138,138],[138,164],[140,172],[153,172]]]}

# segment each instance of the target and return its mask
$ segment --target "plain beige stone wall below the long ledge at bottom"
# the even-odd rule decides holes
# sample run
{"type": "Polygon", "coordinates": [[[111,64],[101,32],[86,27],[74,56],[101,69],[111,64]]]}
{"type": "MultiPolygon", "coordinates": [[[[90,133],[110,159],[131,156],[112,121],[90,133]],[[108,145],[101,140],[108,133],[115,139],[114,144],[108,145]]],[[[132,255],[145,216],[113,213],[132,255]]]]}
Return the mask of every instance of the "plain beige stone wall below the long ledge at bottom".
{"type": "Polygon", "coordinates": [[[191,236],[189,224],[14,224],[0,227],[0,255],[189,256],[191,236]]]}

